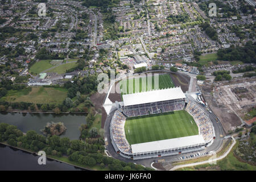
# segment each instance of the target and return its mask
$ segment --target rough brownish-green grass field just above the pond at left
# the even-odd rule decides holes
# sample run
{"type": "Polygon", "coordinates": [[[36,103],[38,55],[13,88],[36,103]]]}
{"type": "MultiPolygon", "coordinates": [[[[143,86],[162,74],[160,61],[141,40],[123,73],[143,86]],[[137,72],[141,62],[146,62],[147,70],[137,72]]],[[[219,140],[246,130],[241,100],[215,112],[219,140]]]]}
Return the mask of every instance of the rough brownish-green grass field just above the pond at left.
{"type": "Polygon", "coordinates": [[[9,90],[1,100],[7,102],[30,102],[35,104],[60,104],[67,97],[67,89],[32,87],[22,90],[9,90]]]}

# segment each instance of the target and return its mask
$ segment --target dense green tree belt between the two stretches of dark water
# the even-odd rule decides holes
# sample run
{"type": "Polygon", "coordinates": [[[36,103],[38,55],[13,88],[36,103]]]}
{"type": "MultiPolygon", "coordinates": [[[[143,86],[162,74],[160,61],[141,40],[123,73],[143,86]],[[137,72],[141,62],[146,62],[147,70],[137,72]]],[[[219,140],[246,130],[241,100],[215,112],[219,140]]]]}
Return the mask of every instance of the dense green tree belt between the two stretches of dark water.
{"type": "Polygon", "coordinates": [[[43,150],[47,155],[61,157],[67,155],[70,161],[75,161],[87,166],[108,167],[110,170],[143,171],[152,170],[134,163],[125,163],[117,159],[102,155],[105,147],[104,139],[70,140],[56,135],[40,135],[34,130],[23,134],[14,125],[0,123],[0,142],[7,142],[10,146],[24,148],[33,152],[43,150]]]}

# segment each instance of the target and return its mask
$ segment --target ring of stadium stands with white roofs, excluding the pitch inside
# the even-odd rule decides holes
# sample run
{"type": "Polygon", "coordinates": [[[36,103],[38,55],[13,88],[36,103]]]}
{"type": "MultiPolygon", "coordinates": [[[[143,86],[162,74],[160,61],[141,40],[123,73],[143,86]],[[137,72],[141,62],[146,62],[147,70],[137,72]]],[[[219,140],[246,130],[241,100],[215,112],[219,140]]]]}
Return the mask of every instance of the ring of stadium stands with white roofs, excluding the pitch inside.
{"type": "Polygon", "coordinates": [[[124,94],[123,105],[115,111],[110,123],[110,138],[115,151],[125,158],[146,159],[203,150],[212,142],[214,130],[208,115],[196,102],[185,106],[185,95],[180,87],[124,94]],[[129,117],[186,110],[195,119],[198,135],[129,144],[125,122],[129,117]]]}

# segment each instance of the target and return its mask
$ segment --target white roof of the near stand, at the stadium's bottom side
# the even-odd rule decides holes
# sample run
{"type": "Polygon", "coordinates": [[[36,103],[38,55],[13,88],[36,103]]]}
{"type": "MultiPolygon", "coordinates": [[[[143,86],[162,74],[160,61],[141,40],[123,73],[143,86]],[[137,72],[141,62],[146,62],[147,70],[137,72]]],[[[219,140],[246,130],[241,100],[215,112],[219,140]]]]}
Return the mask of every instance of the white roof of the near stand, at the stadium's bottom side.
{"type": "Polygon", "coordinates": [[[139,152],[168,150],[170,148],[180,148],[199,144],[205,144],[203,135],[193,135],[189,137],[172,138],[154,142],[132,144],[131,151],[133,151],[133,154],[135,154],[139,152]]]}

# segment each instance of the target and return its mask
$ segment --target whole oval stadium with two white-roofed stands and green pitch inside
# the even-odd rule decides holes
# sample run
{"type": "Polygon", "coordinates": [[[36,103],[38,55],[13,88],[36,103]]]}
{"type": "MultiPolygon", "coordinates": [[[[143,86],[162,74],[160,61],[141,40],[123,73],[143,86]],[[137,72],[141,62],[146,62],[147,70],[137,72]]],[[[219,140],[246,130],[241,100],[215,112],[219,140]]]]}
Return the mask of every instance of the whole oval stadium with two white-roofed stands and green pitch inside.
{"type": "Polygon", "coordinates": [[[110,139],[115,152],[137,160],[204,150],[212,144],[212,122],[180,86],[138,91],[123,94],[114,111],[110,139]]]}

